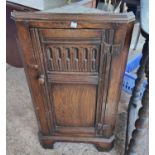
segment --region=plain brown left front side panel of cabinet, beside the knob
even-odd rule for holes
[[[16,22],[16,27],[18,30],[18,37],[21,44],[21,55],[24,62],[24,70],[30,89],[31,97],[33,100],[33,105],[35,113],[37,116],[39,130],[43,135],[49,135],[49,124],[47,111],[45,110],[45,100],[44,94],[42,92],[42,86],[38,83],[38,71],[28,67],[29,65],[34,65],[35,61],[33,59],[33,47],[31,44],[29,26],[23,22]]]

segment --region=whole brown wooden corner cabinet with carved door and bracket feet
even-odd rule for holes
[[[132,14],[16,13],[24,68],[45,148],[56,141],[113,146]],[[72,21],[77,28],[71,28]]]

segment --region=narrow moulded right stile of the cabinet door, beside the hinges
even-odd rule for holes
[[[113,30],[112,30],[113,31]],[[98,85],[98,99],[97,99],[97,134],[103,135],[104,130],[104,113],[106,106],[106,97],[109,87],[109,70],[111,64],[111,45],[107,44],[107,38],[112,40],[113,35],[111,31],[103,30],[102,32],[102,43],[101,43],[101,57],[100,57],[100,68],[99,68],[99,85]],[[107,126],[108,127],[108,126]]]

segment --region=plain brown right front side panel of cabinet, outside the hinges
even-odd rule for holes
[[[109,90],[104,115],[104,124],[110,125],[110,128],[105,130],[103,134],[105,137],[110,137],[114,131],[132,30],[133,22],[121,25],[115,33],[114,43],[121,43],[122,50],[118,54],[113,53],[111,60]]]

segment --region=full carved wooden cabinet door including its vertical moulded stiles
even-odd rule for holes
[[[102,136],[110,130],[104,117],[111,62],[122,48],[122,42],[113,44],[114,30],[31,28],[30,32],[44,68],[52,134],[72,130]]]

